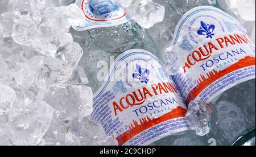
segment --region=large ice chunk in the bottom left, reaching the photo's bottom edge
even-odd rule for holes
[[[44,101],[35,101],[28,110],[14,109],[9,114],[10,125],[14,131],[11,142],[17,146],[34,146],[42,141],[49,129],[53,109]]]

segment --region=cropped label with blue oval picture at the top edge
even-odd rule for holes
[[[77,0],[85,15],[85,20],[75,27],[77,31],[92,28],[112,27],[129,21],[126,11],[112,0]]]

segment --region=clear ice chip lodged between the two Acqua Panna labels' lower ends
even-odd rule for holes
[[[210,116],[212,109],[205,101],[191,101],[186,118],[195,129],[196,134],[203,137],[210,132]]]

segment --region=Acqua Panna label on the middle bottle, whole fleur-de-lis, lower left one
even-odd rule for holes
[[[131,49],[112,65],[108,80],[94,94],[92,118],[119,145],[147,145],[191,129],[187,107],[156,56]]]

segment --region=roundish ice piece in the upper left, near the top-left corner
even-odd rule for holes
[[[38,26],[30,19],[19,19],[13,26],[14,41],[23,46],[31,46],[32,42],[40,39]]]

